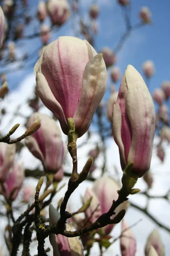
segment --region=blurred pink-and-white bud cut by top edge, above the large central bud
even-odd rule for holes
[[[48,0],[47,10],[53,25],[61,26],[70,16],[67,0]]]

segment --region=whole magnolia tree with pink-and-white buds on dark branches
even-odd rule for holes
[[[85,14],[88,20],[81,14],[83,1],[80,4],[78,0],[40,1],[37,6],[27,0],[4,0],[1,4],[1,125],[6,122],[6,131],[2,129],[0,137],[0,214],[5,224],[1,227],[1,245],[6,244],[6,248],[0,255],[30,256],[34,247],[34,255],[38,256],[88,256],[94,254],[96,245],[99,248],[96,255],[107,255],[108,248],[111,255],[117,255],[117,240],[122,256],[137,255],[138,241],[124,219],[130,205],[170,232],[169,227],[148,211],[150,198],[169,200],[169,192],[150,195],[153,176],[149,169],[155,130],[159,136],[154,147],[162,162],[164,140],[170,142],[166,103],[170,81],[162,82],[154,91],[153,99],[159,106],[155,111],[149,91],[155,73],[153,61],[145,61],[142,66],[147,85],[132,65],[127,66],[120,81],[122,72],[115,63],[117,53],[133,30],[152,24],[150,10],[141,7],[139,21],[132,24],[130,0],[118,0],[125,33],[114,50],[107,46],[99,50],[95,36],[100,9],[96,3],[91,3]],[[71,22],[72,36],[68,36],[67,29],[62,30],[62,36],[56,36],[56,31],[59,33],[68,22]],[[38,37],[42,41],[40,49],[29,54],[19,52],[19,47],[26,49]],[[37,62],[35,55],[36,59],[39,55]],[[22,95],[26,102],[17,105],[9,121],[6,116],[11,118],[11,115],[6,109],[10,112],[13,107],[7,106],[11,99],[8,76],[18,72],[21,79],[33,66],[36,90],[29,97]],[[116,84],[119,84],[118,91]],[[23,104],[25,111],[22,111]],[[20,124],[11,125],[15,118],[23,128],[25,125],[18,137],[15,134],[20,131]],[[122,171],[108,170],[106,142],[111,138],[119,148]],[[83,153],[82,158],[87,158],[81,170],[77,167],[82,160],[79,152]],[[30,169],[24,166],[26,159]],[[138,185],[141,179],[147,184],[143,192]],[[87,185],[87,180],[91,185],[81,195],[81,205],[77,207],[78,187]],[[129,203],[129,196],[133,198],[137,193],[147,198],[145,208]],[[112,231],[119,222],[122,231],[116,236]],[[165,255],[157,228],[148,234],[144,246],[141,255]]]

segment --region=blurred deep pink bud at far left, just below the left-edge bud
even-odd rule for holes
[[[11,200],[15,200],[15,198],[17,197],[21,189],[23,180],[24,180],[23,164],[19,165],[17,161],[14,160],[14,165],[10,169],[8,178],[2,183],[3,194],[7,198],[11,197]]]

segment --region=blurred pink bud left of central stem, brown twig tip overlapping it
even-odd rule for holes
[[[42,113],[33,113],[28,119],[27,128],[37,117],[41,119],[41,127],[32,135],[26,137],[26,146],[29,151],[41,160],[44,171],[56,173],[65,160],[66,147],[56,122]]]

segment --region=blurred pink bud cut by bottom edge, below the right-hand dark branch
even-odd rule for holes
[[[133,235],[132,230],[125,221],[122,221],[122,235],[120,238],[120,248],[122,256],[135,256],[136,239],[135,236]]]

